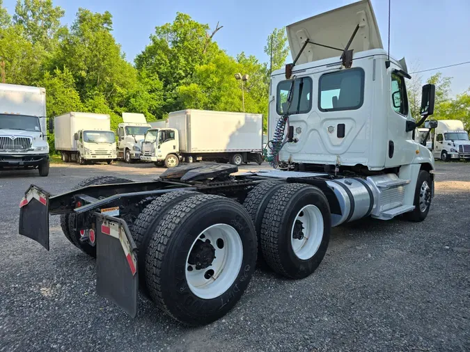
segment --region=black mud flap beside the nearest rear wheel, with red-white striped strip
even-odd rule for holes
[[[96,216],[96,293],[108,298],[132,318],[137,315],[136,245],[125,221]]]

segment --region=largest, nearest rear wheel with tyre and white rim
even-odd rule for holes
[[[164,215],[149,241],[150,296],[171,317],[202,325],[242,296],[256,265],[256,233],[242,205],[194,195]]]

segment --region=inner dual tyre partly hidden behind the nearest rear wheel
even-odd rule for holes
[[[159,198],[152,200],[136,218],[134,226],[132,227],[132,237],[136,243],[137,250],[139,250],[139,256],[137,257],[139,261],[139,287],[146,296],[150,296],[150,294],[148,294],[145,274],[147,246],[152,233],[155,232],[155,227],[158,226],[159,221],[162,220],[163,216],[173,205],[198,194],[201,193],[194,191],[165,193]]]

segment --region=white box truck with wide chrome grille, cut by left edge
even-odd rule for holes
[[[0,83],[0,170],[49,175],[45,88]]]

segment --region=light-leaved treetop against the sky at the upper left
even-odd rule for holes
[[[23,26],[24,35],[33,44],[51,50],[63,34],[61,18],[65,11],[52,4],[52,0],[17,0],[13,21]]]

